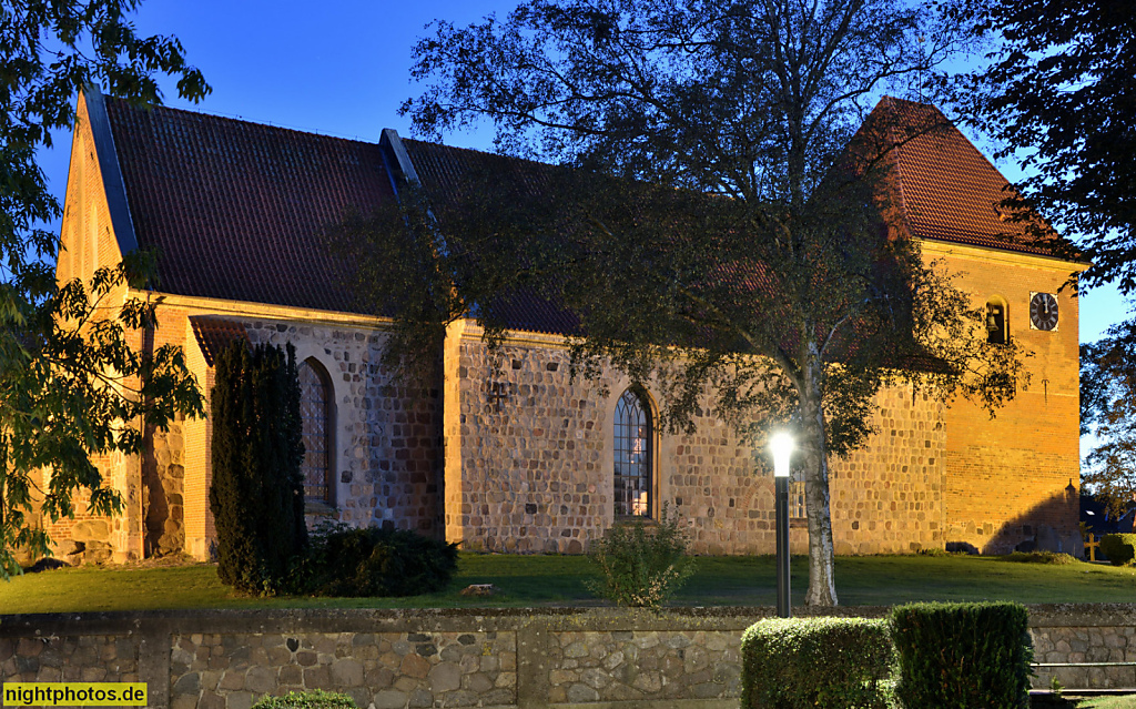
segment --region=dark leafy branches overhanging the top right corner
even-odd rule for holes
[[[1136,12],[1117,0],[953,0],[996,44],[961,84],[968,119],[1018,155],[1021,200],[1081,237],[1081,285],[1136,290]],[[999,36],[1001,35],[1001,36]],[[1010,197],[1008,194],[1008,197]],[[1071,248],[1071,244],[1069,244]]]

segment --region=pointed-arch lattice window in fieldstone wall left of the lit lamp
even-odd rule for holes
[[[628,389],[616,403],[616,517],[650,517],[654,432],[646,397]]]

